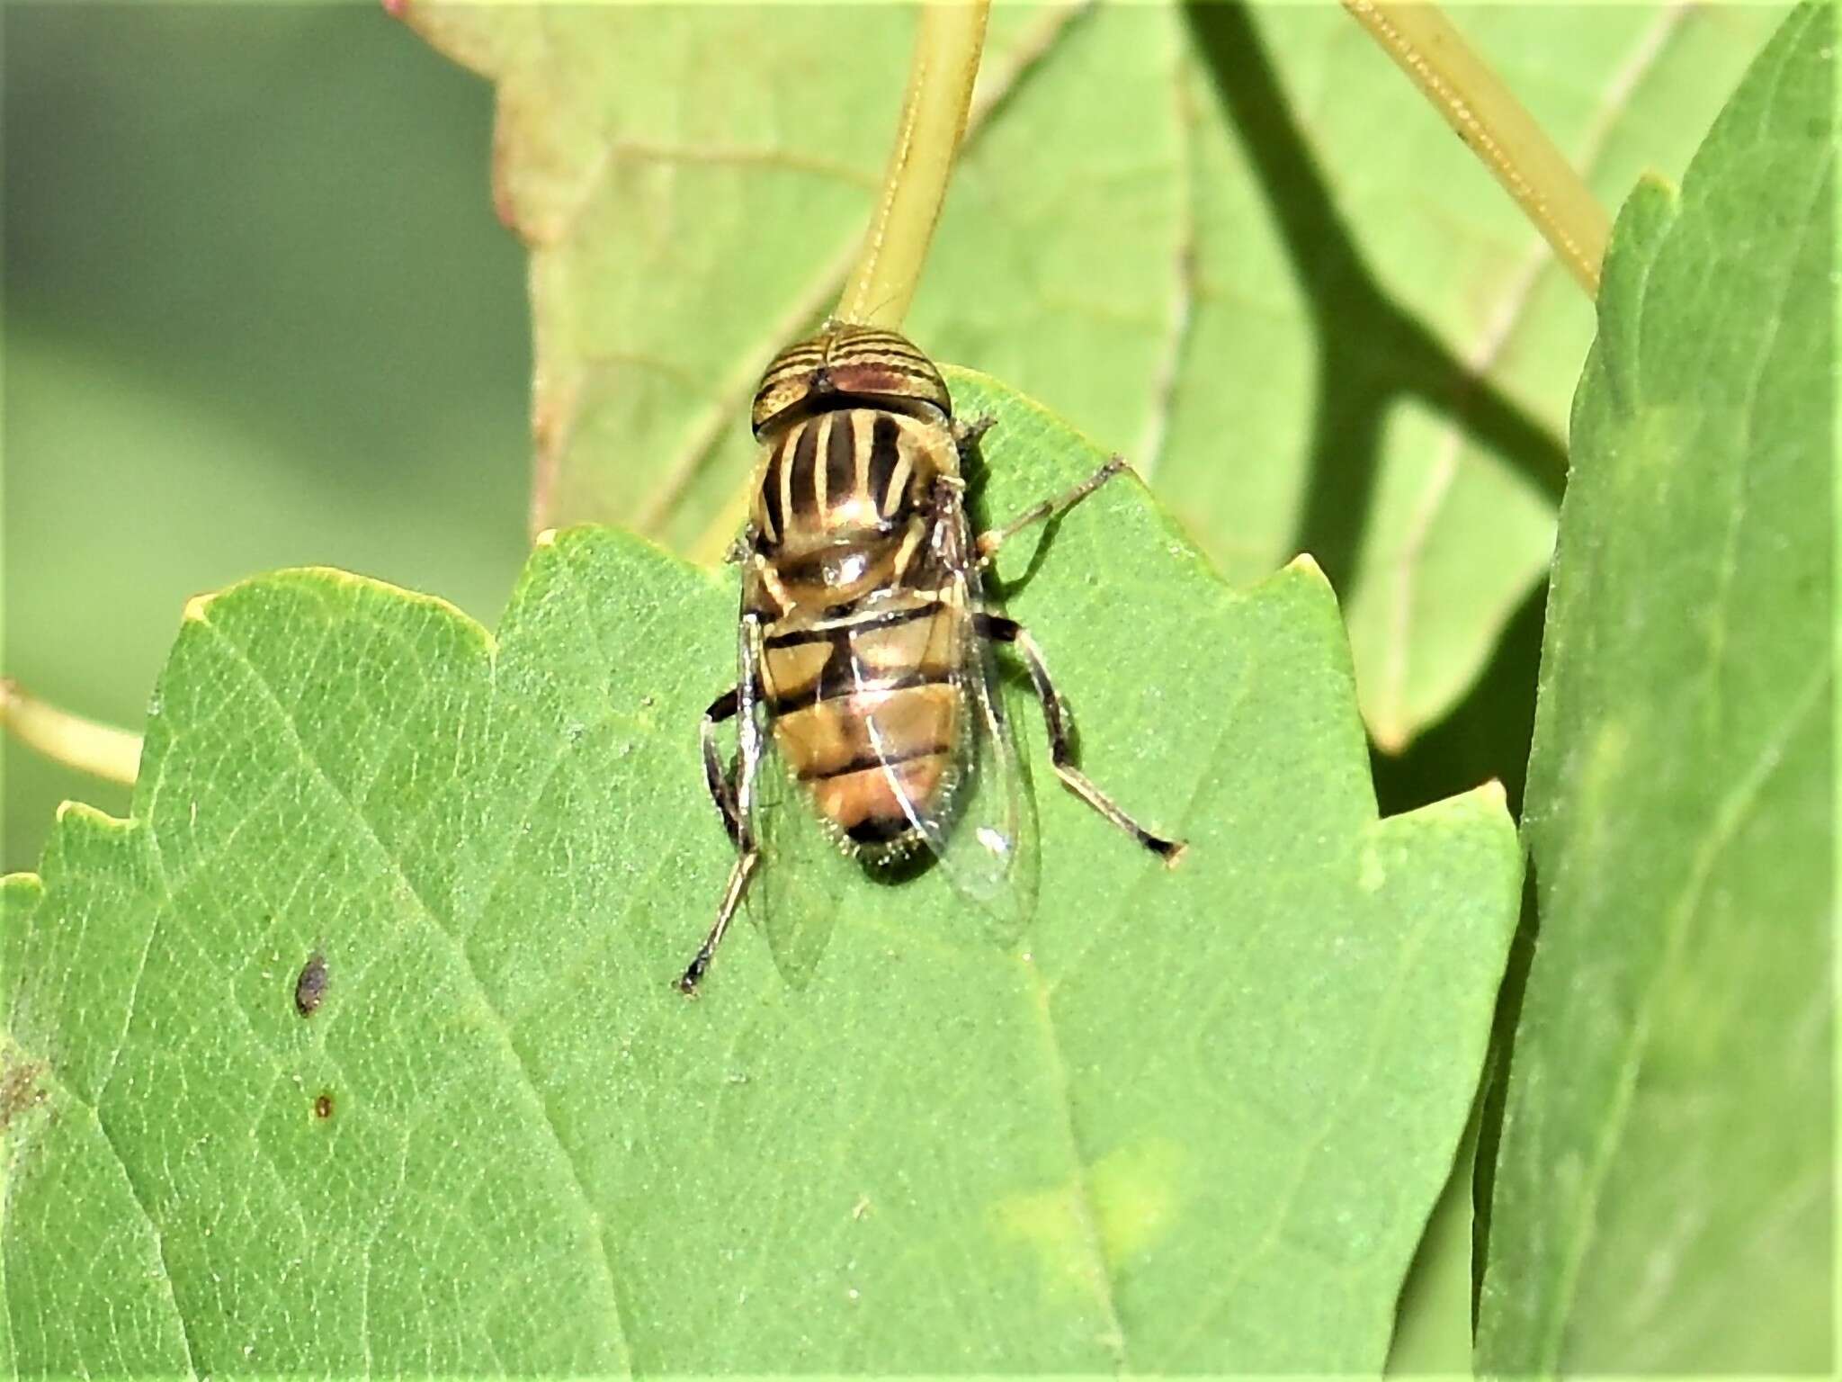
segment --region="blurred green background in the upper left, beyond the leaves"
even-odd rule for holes
[[[186,597],[332,564],[494,623],[525,256],[492,94],[376,6],[0,9],[4,658],[140,728]],[[4,866],[127,789],[6,744]]]

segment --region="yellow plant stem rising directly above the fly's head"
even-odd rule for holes
[[[838,299],[838,321],[899,328],[908,315],[965,135],[989,7],[989,0],[921,6],[895,147],[864,247]]]

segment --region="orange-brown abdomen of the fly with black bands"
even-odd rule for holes
[[[962,691],[958,606],[934,593],[785,619],[763,639],[774,737],[820,814],[855,844],[893,846],[912,809],[952,789]]]

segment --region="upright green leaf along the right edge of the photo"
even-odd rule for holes
[[[1492,1371],[1833,1364],[1833,83],[1805,6],[1606,264],[1529,772]]]

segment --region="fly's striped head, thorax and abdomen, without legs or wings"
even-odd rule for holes
[[[939,501],[960,474],[949,409],[927,356],[855,326],[781,352],[755,398],[763,704],[820,814],[884,853],[952,789],[965,730],[969,623],[934,540],[963,525]]]

